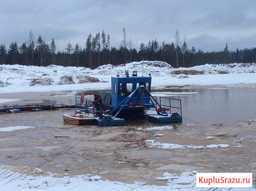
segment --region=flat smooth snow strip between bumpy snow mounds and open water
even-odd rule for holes
[[[156,77],[152,76],[152,88],[168,87],[168,86],[233,86],[243,85],[253,87],[256,84],[256,73],[229,73],[229,74],[206,74],[206,75],[189,75],[188,78],[168,78],[169,76]],[[109,76],[109,80],[111,76]],[[10,85],[0,88],[2,93],[17,92],[49,92],[49,91],[76,91],[76,90],[98,90],[111,89],[109,82],[97,83],[75,83],[49,86],[15,86]]]

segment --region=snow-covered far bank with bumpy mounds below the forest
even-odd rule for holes
[[[201,65],[173,68],[166,62],[132,62],[119,66],[103,65],[94,70],[84,67],[0,65],[0,93],[110,89],[111,76],[128,70],[138,76],[151,73],[152,86],[221,85],[256,83],[256,64]]]

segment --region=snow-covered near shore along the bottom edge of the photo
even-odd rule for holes
[[[41,173],[41,169],[35,169]],[[160,191],[160,190],[200,190],[200,191],[228,191],[230,188],[200,188],[196,187],[195,170],[187,170],[181,175],[163,173],[163,177],[157,180],[167,180],[167,186],[144,185],[143,182],[133,184],[118,181],[102,180],[99,176],[77,175],[75,177],[55,177],[56,174],[48,172],[48,176],[31,176],[25,173],[14,172],[8,166],[0,166],[0,188],[1,190],[47,190],[47,191],[80,191],[80,190],[133,190],[133,191]],[[233,191],[255,190],[255,188],[232,188]]]

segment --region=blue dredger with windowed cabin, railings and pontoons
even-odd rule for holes
[[[128,70],[125,70],[125,76],[111,78],[111,92],[98,93],[102,105],[84,99],[83,94],[76,96],[76,115],[91,115],[99,126],[124,125],[125,120],[137,119],[153,123],[181,123],[181,100],[152,96],[151,79],[150,74],[137,76],[137,71],[133,71],[133,75],[129,76]],[[99,104],[99,110],[95,109],[95,104]],[[67,121],[68,115],[63,115],[63,118]]]

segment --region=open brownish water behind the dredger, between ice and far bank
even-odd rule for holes
[[[23,92],[0,94],[0,99],[21,99],[3,103],[7,105],[36,103],[74,105],[75,95],[83,93],[86,99],[93,99],[92,95],[99,91],[104,90]],[[163,96],[181,99],[183,124],[223,123],[231,125],[236,121],[256,119],[256,86],[254,85],[163,87],[152,88],[152,92],[171,92],[171,96],[165,93]],[[173,104],[175,107],[179,106],[177,101]],[[174,111],[180,113],[180,110],[174,109],[172,112]]]

